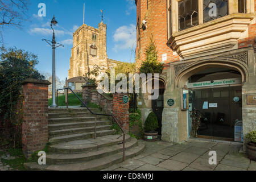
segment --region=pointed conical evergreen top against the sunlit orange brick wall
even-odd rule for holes
[[[146,60],[142,62],[139,71],[141,73],[162,73],[163,65],[158,62],[158,51],[156,51],[153,36],[150,38],[150,44],[146,48]]]

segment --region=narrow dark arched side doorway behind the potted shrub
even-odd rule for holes
[[[163,108],[164,108],[164,82],[162,80],[159,80],[159,96],[156,100],[151,100],[151,106],[153,113],[156,114],[156,117],[158,118],[158,135],[161,135],[162,132],[162,114],[163,114]]]

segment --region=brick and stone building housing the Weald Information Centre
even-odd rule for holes
[[[137,69],[154,37],[159,98],[140,96],[143,120],[158,116],[162,140],[191,137],[192,108],[202,115],[199,137],[242,140],[256,130],[255,0],[135,0]],[[146,23],[143,24],[143,20]],[[236,135],[236,139],[235,139]]]

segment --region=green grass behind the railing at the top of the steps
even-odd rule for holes
[[[79,96],[82,99],[82,94],[77,93],[77,96]],[[57,97],[56,97],[57,99]],[[50,106],[52,104],[52,98],[49,98],[48,105]],[[81,101],[73,94],[68,94],[68,105],[69,106],[80,106]],[[66,106],[65,103],[65,95],[63,96],[58,96],[58,106]]]

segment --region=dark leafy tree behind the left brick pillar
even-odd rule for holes
[[[21,127],[20,108],[17,108],[22,96],[21,82],[27,78],[43,79],[44,76],[35,69],[38,57],[33,53],[16,47],[6,49],[3,46],[0,51],[0,121],[2,124],[9,122],[10,127],[16,129],[17,126]],[[16,133],[14,130],[11,137],[14,137],[13,141],[20,142],[20,138],[15,138]]]

